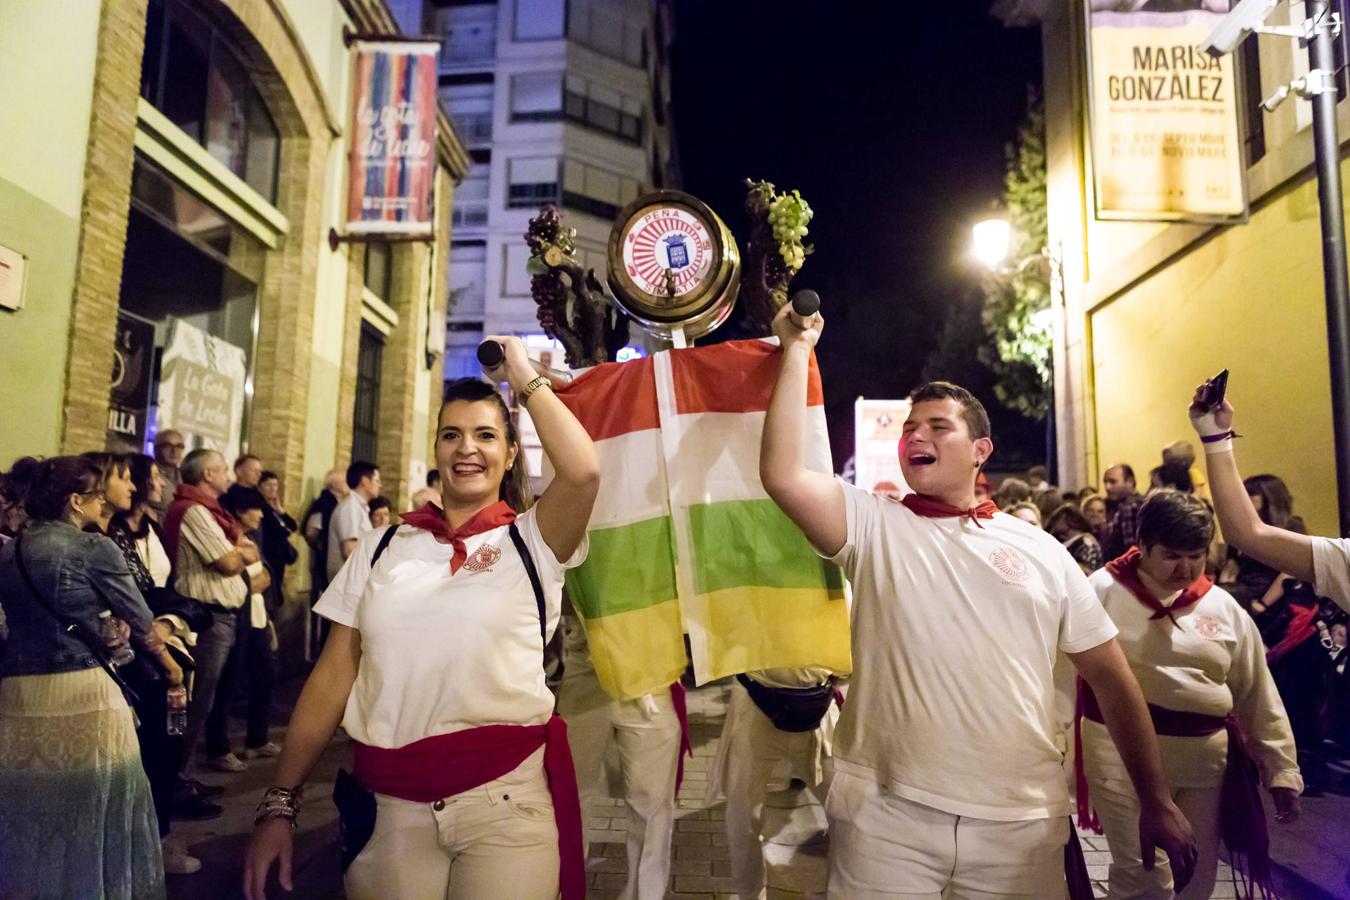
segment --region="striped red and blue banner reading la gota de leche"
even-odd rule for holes
[[[436,43],[355,45],[348,233],[432,232],[439,50]]]

